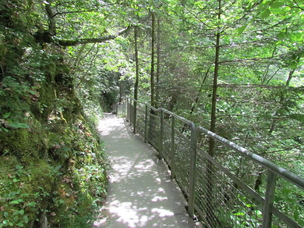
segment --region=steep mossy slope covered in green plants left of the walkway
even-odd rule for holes
[[[0,226],[86,227],[106,193],[103,146],[65,53],[35,40],[31,4],[0,3]]]

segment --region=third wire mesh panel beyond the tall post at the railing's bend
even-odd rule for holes
[[[160,118],[156,115],[149,113],[148,142],[157,150],[159,150],[160,133]]]

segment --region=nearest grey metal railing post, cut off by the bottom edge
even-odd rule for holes
[[[271,227],[272,223],[272,206],[274,204],[275,192],[276,192],[276,180],[277,175],[268,170],[267,173],[267,186],[265,193],[265,202],[263,210],[263,223],[262,227]]]

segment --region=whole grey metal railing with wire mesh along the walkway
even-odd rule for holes
[[[300,176],[166,109],[132,98],[113,107],[158,150],[187,197],[189,215],[207,227],[304,226]],[[205,152],[209,138],[222,155]],[[266,184],[255,189],[257,180]]]

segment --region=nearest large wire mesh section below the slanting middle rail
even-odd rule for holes
[[[197,149],[195,203],[201,219],[212,227],[259,227],[262,205],[230,177],[237,178],[234,174]]]

